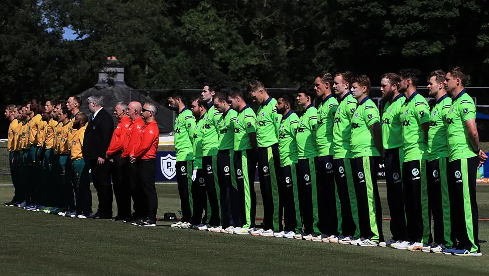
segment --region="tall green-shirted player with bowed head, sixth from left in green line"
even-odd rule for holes
[[[268,95],[261,81],[250,82],[247,92],[260,104],[257,110],[258,178],[263,199],[263,229],[251,234],[273,237],[274,232],[283,230],[278,190],[281,171],[278,129],[282,116],[275,108],[277,100]]]

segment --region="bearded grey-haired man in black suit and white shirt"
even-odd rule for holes
[[[90,165],[93,186],[97,190],[98,210],[94,218],[109,219],[112,217],[112,184],[110,166],[105,160],[105,153],[114,131],[114,121],[103,109],[101,96],[90,96],[87,103],[93,116],[85,130],[83,158]]]

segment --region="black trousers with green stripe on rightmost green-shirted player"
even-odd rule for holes
[[[478,158],[457,159],[448,163],[448,192],[452,230],[457,249],[480,252],[478,242],[479,213],[475,194]]]

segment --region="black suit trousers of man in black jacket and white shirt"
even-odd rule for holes
[[[110,182],[110,164],[105,161],[102,165],[97,164],[96,159],[90,160],[93,187],[97,190],[98,209],[97,213],[102,218],[112,217],[112,183]]]

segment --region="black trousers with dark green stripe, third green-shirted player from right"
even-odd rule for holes
[[[403,163],[403,195],[407,240],[431,243],[431,216],[428,203],[426,160]]]

